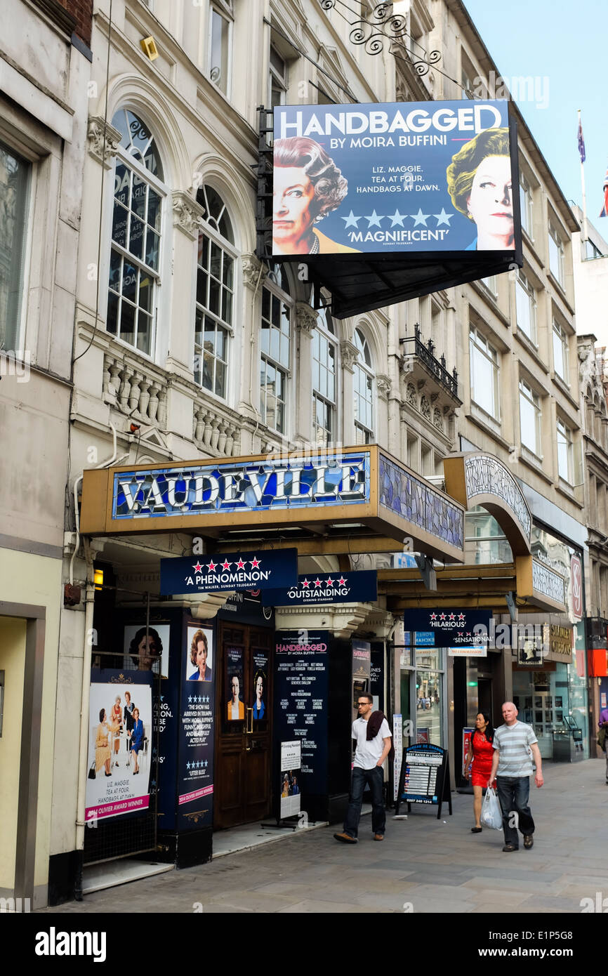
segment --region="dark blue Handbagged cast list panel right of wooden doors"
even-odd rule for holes
[[[329,641],[323,630],[277,630],[274,679],[276,743],[302,743],[299,791],[327,789]],[[278,746],[277,746],[278,748]]]

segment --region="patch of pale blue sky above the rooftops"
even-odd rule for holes
[[[547,86],[547,107],[516,101],[564,196],[579,205],[577,110],[581,109],[587,149],[588,219],[604,238],[608,237],[608,218],[598,220],[608,167],[608,3],[465,0],[465,6],[506,79],[538,77],[539,94],[543,85]]]

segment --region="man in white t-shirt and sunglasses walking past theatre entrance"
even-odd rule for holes
[[[352,723],[352,738],[357,744],[354,753],[352,778],[350,781],[350,796],[346,810],[345,829],[342,834],[334,834],[336,840],[346,844],[356,844],[361,816],[361,803],[366,785],[372,793],[372,831],[374,840],[385,839],[386,814],[383,799],[383,784],[385,773],[383,765],[390,752],[392,738],[388,722],[382,721],[369,726],[368,722],[373,712],[373,698],[371,695],[359,695],[357,708],[359,717]],[[374,718],[380,717],[382,712],[374,712]],[[374,731],[378,724],[378,731],[368,738],[368,728]]]

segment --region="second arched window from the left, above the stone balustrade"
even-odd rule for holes
[[[213,186],[201,186],[196,199],[205,211],[205,226],[198,234],[196,259],[194,379],[225,399],[234,315],[234,233]]]

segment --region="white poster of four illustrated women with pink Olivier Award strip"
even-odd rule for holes
[[[91,677],[85,818],[95,822],[149,806],[152,674],[125,681],[106,668]]]

